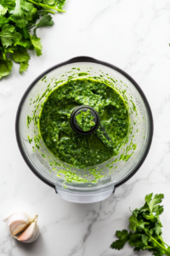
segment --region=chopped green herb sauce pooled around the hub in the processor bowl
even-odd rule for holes
[[[80,105],[91,106],[99,113],[100,128],[92,135],[82,136],[71,129],[71,112]],[[109,85],[94,79],[70,80],[57,87],[43,102],[39,120],[43,142],[51,153],[79,167],[99,165],[118,154],[127,138],[128,125],[122,97]]]

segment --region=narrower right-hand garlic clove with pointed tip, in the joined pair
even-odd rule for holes
[[[32,220],[28,228],[20,236],[15,238],[18,241],[29,243],[32,241],[36,241],[38,236],[39,236],[39,228],[37,226],[37,215],[36,215],[36,217]]]

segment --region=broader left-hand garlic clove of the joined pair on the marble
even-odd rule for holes
[[[32,219],[25,212],[15,212],[3,221],[7,222],[11,236],[16,236],[31,224]]]

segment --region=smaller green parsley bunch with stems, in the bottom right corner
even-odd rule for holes
[[[116,236],[119,238],[111,244],[111,247],[116,250],[122,249],[128,241],[129,245],[134,247],[134,251],[148,250],[152,255],[170,256],[170,247],[163,241],[161,232],[160,215],[163,212],[163,207],[160,206],[163,194],[153,194],[145,196],[144,207],[135,209],[133,215],[129,218],[129,229],[116,231]]]

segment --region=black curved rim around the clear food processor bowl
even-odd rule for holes
[[[39,81],[40,79],[42,79],[45,75],[47,75],[49,72],[53,71],[54,69],[58,68],[58,67],[63,67],[65,65],[71,64],[71,63],[76,63],[76,62],[91,62],[91,63],[97,63],[97,64],[101,64],[104,65],[106,67],[111,67],[112,69],[116,70],[119,73],[122,73],[122,75],[124,77],[126,77],[134,86],[135,88],[139,91],[140,96],[142,97],[145,107],[148,111],[148,116],[149,116],[149,121],[150,121],[150,135],[149,135],[149,141],[148,141],[148,145],[147,148],[145,149],[144,155],[141,158],[141,160],[139,161],[139,163],[137,164],[137,166],[135,167],[135,169],[133,170],[132,173],[130,173],[126,178],[124,178],[120,183],[116,183],[115,187],[119,187],[121,186],[123,183],[126,183],[128,179],[130,179],[131,177],[133,177],[133,175],[138,172],[140,166],[142,166],[142,164],[144,163],[144,160],[147,156],[147,154],[149,153],[150,150],[150,145],[152,142],[152,137],[153,137],[153,131],[154,131],[154,124],[153,124],[153,117],[152,117],[152,113],[151,113],[151,109],[150,109],[150,104],[147,101],[143,90],[141,90],[141,88],[139,87],[139,84],[136,83],[136,81],[134,81],[133,78],[131,78],[131,76],[129,76],[126,72],[124,72],[121,68],[116,67],[110,63],[107,63],[105,61],[99,61],[97,59],[94,59],[92,57],[88,57],[88,56],[77,56],[75,58],[70,59],[69,61],[64,61],[59,63],[58,65],[55,65],[54,67],[50,67],[48,68],[48,70],[46,70],[45,72],[43,72],[42,74],[40,74],[37,79],[35,79],[30,86],[27,88],[26,92],[24,93],[24,95],[22,96],[21,100],[20,100],[20,104],[19,107],[17,109],[17,113],[16,113],[16,119],[15,119],[15,134],[16,134],[16,140],[18,143],[18,147],[20,148],[20,153],[22,154],[23,159],[26,161],[27,166],[29,166],[29,168],[31,169],[31,171],[42,180],[42,182],[48,184],[48,186],[55,188],[54,183],[50,183],[49,181],[47,181],[45,178],[43,178],[37,171],[35,168],[33,168],[33,166],[31,165],[31,163],[29,162],[29,160],[27,160],[26,158],[26,154],[24,153],[24,150],[21,146],[20,143],[20,135],[19,135],[19,120],[20,120],[20,111],[22,108],[23,103],[25,102],[26,96],[29,93],[29,91],[31,90],[31,88],[37,83],[37,81]]]

